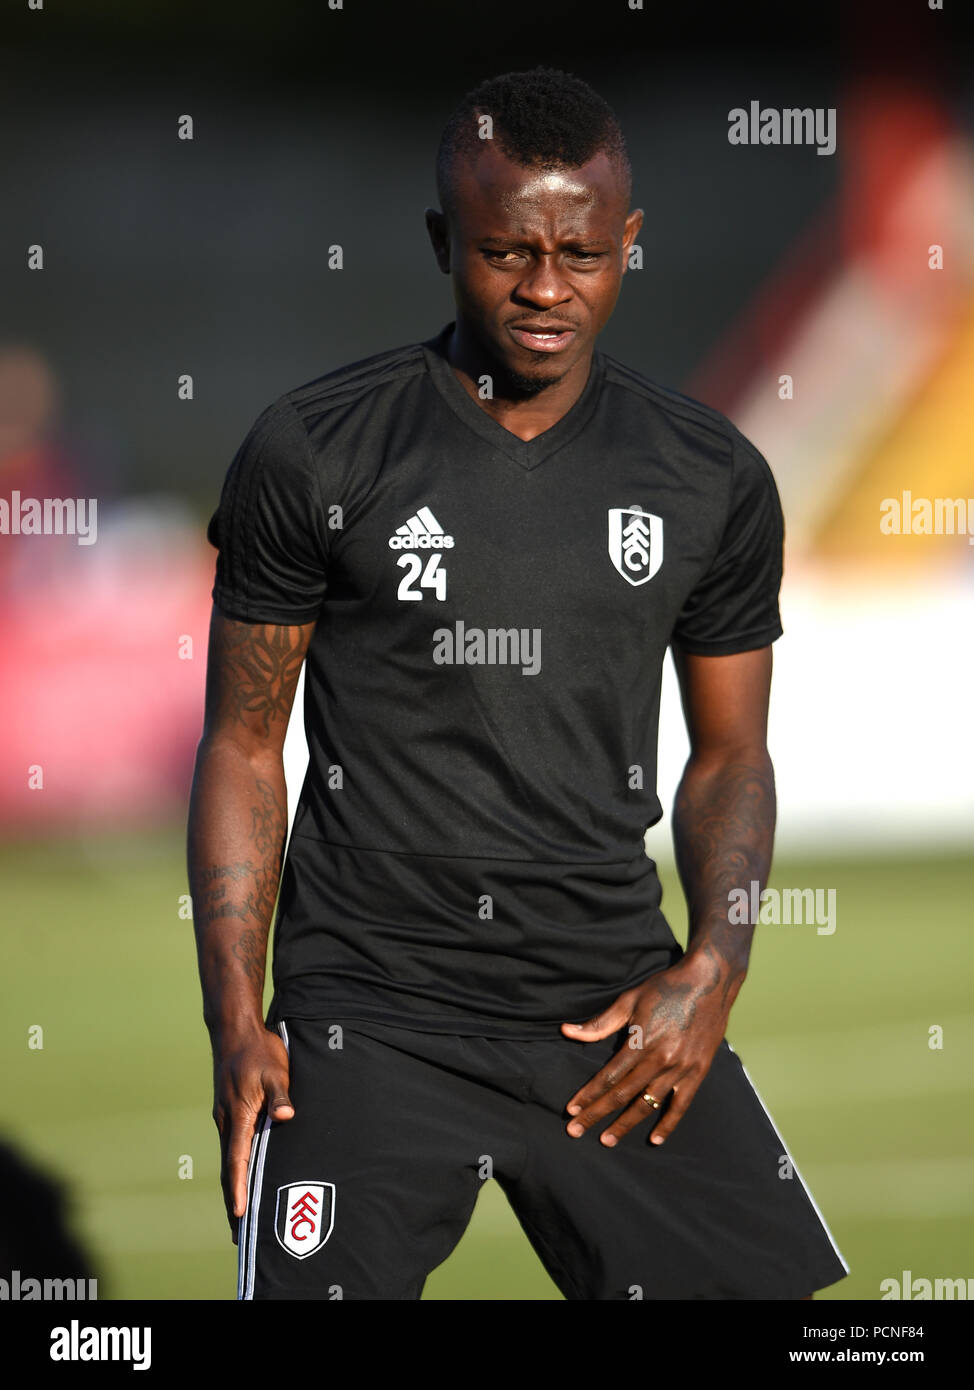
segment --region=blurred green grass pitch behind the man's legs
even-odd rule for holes
[[[0,869],[4,1137],[67,1184],[101,1298],[233,1298],[182,828],[8,845]],[[771,885],[836,890],[832,935],[759,927],[728,1031],[852,1266],[820,1297],[974,1276],[974,866],[779,860]],[[488,1183],[425,1297],[560,1294]]]

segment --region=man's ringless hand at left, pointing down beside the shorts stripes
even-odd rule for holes
[[[276,1033],[260,1031],[213,1045],[213,1119],[220,1130],[220,1183],[236,1245],[238,1220],[247,1205],[247,1163],[261,1113],[289,1120],[288,1049]]]

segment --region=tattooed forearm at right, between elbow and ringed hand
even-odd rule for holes
[[[775,792],[771,760],[728,763],[702,771],[686,766],[674,805],[677,867],[689,912],[689,949],[706,951],[725,974],[723,1001],[748,969],[753,923],[729,920],[734,890],[767,881],[774,845]]]

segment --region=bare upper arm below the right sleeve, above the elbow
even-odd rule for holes
[[[684,717],[695,758],[767,746],[771,648],[698,656],[672,644]]]

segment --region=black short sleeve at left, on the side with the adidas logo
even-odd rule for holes
[[[249,623],[310,623],[327,588],[327,541],[307,430],[285,398],[233,456],[207,525],[214,602]]]

